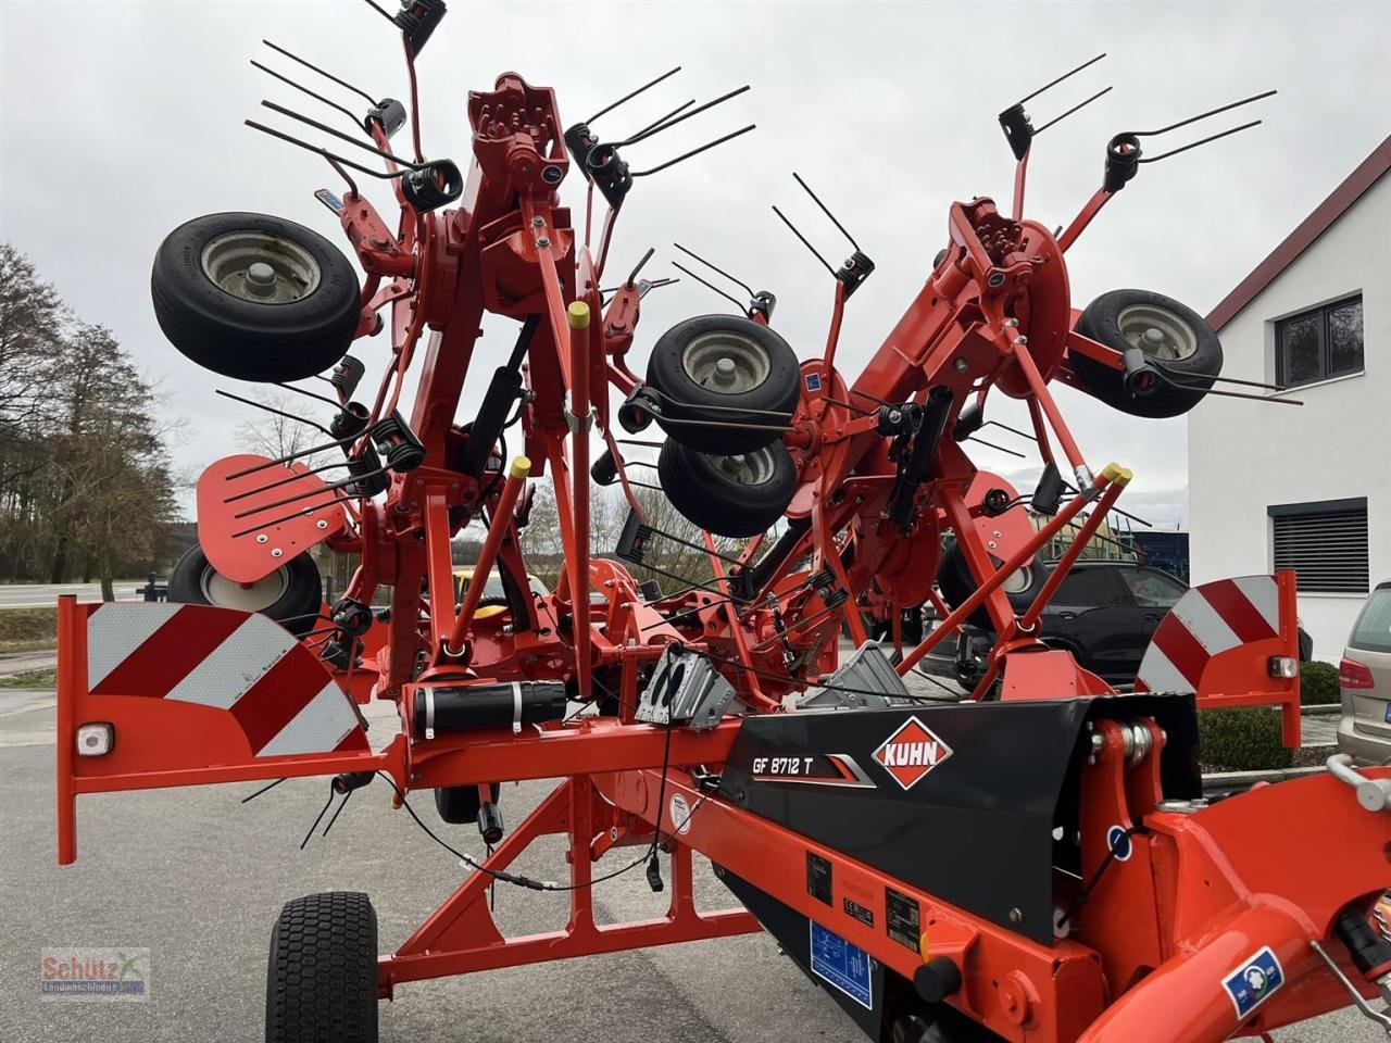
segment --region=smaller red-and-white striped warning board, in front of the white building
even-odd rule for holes
[[[1280,633],[1280,587],[1274,576],[1239,576],[1191,587],[1156,627],[1135,688],[1199,691],[1213,656]]]

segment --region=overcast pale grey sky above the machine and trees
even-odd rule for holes
[[[0,235],[163,382],[168,409],[189,419],[177,458],[195,474],[231,451],[231,431],[245,416],[211,388],[248,388],[198,369],[164,341],[149,300],[156,246],[182,221],[220,210],[289,217],[344,242],[312,196],[319,186],[339,188],[325,164],[241,125],[262,97],[314,104],[248,65],[255,57],[291,71],[262,46],[263,36],[369,92],[405,97],[399,45],[357,0],[0,0]],[[974,195],[1008,199],[1013,159],[995,117],[1013,100],[1109,53],[1031,104],[1042,124],[1116,86],[1035,145],[1027,211],[1052,227],[1097,186],[1110,135],[1280,89],[1255,107],[1263,127],[1145,168],[1068,254],[1077,306],[1107,289],[1142,286],[1207,312],[1391,131],[1388,39],[1391,7],[1381,3],[455,0],[419,63],[421,125],[427,154],[463,165],[465,92],[491,86],[505,70],[554,86],[562,122],[573,122],[684,67],[597,124],[605,136],[643,127],[687,97],[751,83],[748,95],[632,150],[634,165],[647,165],[758,124],[755,134],[638,181],[611,266],[626,268],[655,245],[648,274],[676,274],[668,263],[670,242],[680,241],[776,292],[775,325],[798,353],[819,355],[830,280],[769,204],[779,203],[835,261],[846,248],[791,181],[797,170],[878,264],[847,309],[837,362],[853,374],[944,245],[947,204]],[[334,96],[353,106],[351,95]],[[1219,117],[1213,129],[1231,122]],[[394,213],[378,185],[367,195]],[[573,175],[562,197],[580,211]],[[689,281],[654,292],[633,360],[645,364],[652,341],[676,320],[721,309]],[[515,324],[494,320],[488,328],[479,374],[491,373],[510,346]],[[370,381],[388,349],[384,337],[355,345]],[[481,392],[479,377],[466,388],[465,413]],[[1123,506],[1160,523],[1187,520],[1182,420],[1124,417],[1066,388],[1057,396],[1093,464],[1116,459],[1135,470]],[[1280,423],[1276,407],[1267,409],[1264,421]],[[996,402],[992,416],[1020,424],[1024,413]],[[1025,466],[975,449],[982,467],[1008,474]]]

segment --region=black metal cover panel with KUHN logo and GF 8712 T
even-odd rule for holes
[[[1168,695],[753,716],[730,750],[721,791],[1050,943],[1053,827],[1075,820],[1067,805],[1075,805],[1088,754],[1085,723],[1099,716],[1156,718],[1168,733],[1167,795],[1200,795],[1192,698]]]

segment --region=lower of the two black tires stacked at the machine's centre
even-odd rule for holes
[[[766,477],[744,484],[721,470],[719,462],[739,453],[704,453],[668,438],[657,458],[662,492],[697,528],[715,535],[750,537],[766,533],[783,516],[797,491],[797,466],[782,442],[746,455],[766,462]]]

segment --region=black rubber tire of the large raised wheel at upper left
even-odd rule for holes
[[[227,292],[203,271],[203,249],[220,235],[260,232],[306,250],[319,285],[299,300],[262,303]],[[319,232],[266,214],[207,214],[160,243],[150,271],[154,318],[170,342],[199,366],[234,380],[287,381],[337,363],[357,331],[357,273]]]

